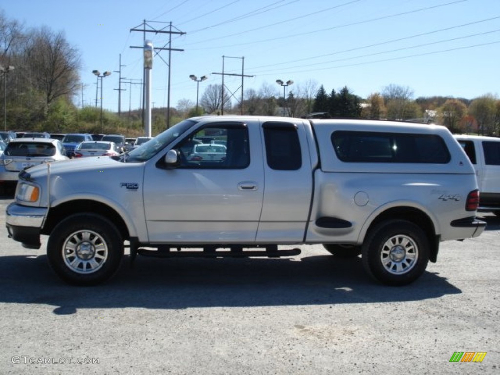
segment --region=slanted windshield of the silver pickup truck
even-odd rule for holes
[[[151,157],[165,148],[168,144],[177,139],[179,135],[184,134],[184,132],[195,123],[196,121],[192,119],[180,121],[179,123],[158,134],[154,138],[148,140],[145,143],[142,143],[137,148],[127,152],[126,158],[123,159],[127,162],[140,162],[149,160]]]

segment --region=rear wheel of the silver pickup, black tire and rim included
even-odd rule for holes
[[[387,220],[371,229],[361,247],[366,272],[386,285],[416,280],[427,267],[429,241],[423,230],[406,220]]]

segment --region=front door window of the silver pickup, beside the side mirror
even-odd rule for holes
[[[203,127],[176,147],[181,168],[242,169],[250,164],[248,129],[243,123]]]

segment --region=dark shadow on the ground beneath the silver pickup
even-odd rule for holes
[[[380,285],[364,273],[361,258],[335,259],[329,254],[278,259],[138,257],[132,267],[125,256],[114,278],[94,287],[60,281],[45,255],[4,256],[0,279],[0,302],[49,304],[55,314],[83,308],[404,302],[461,293],[431,272],[407,286]]]

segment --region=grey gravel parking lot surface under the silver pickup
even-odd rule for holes
[[[444,242],[415,283],[387,287],[360,258],[125,256],[74,287],[45,252],[7,238],[0,197],[0,373],[500,374],[500,220]],[[486,352],[482,362],[450,362]]]

